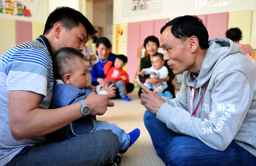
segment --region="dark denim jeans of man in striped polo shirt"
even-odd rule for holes
[[[118,137],[109,130],[87,132],[62,142],[24,147],[6,166],[103,165],[119,151]]]

